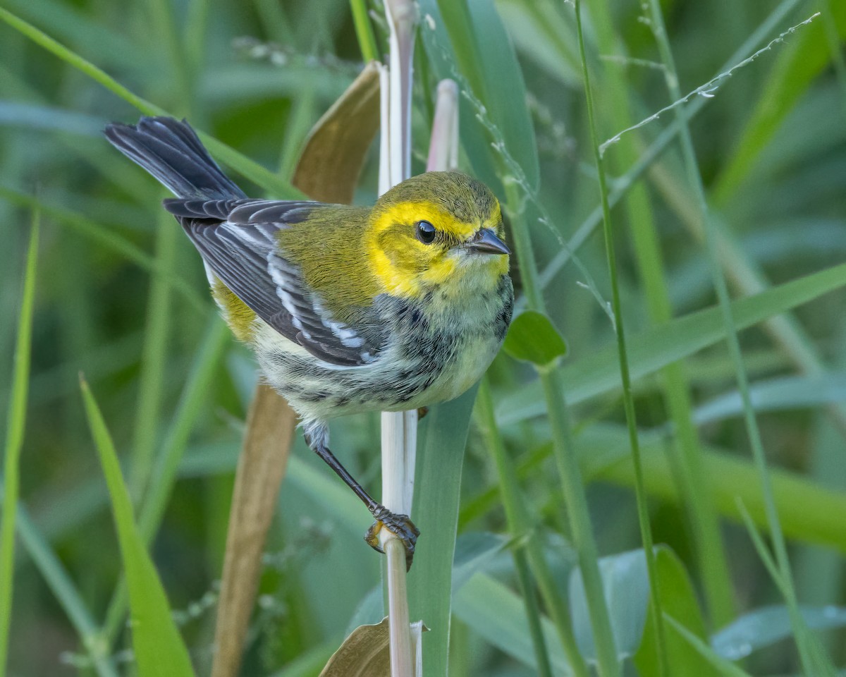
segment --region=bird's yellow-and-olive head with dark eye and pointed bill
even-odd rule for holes
[[[365,231],[372,271],[388,293],[497,286],[511,251],[491,190],[458,172],[427,172],[376,201]]]

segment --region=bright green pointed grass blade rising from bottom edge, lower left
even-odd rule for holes
[[[114,522],[129,588],[132,644],[140,677],[192,677],[194,669],[188,650],[173,622],[168,597],[147,553],[145,540],[135,524],[132,501],[106,422],[82,378],[80,388],[91,435],[112,498]]]

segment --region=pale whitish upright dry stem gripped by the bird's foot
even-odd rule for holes
[[[387,108],[387,118],[382,118],[380,194],[411,174],[411,59],[416,8],[408,0],[387,0],[385,13],[390,27],[390,65],[388,87],[382,89],[382,112]],[[382,504],[395,513],[411,512],[416,451],[417,412],[382,412]],[[405,548],[390,536],[383,548],[387,554],[391,675],[411,677],[414,672]]]

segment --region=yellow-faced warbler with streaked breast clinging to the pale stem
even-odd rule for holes
[[[373,207],[253,200],[173,118],[109,124],[107,139],[176,195],[234,335],[299,414],[305,440],[365,503],[377,532],[419,531],[377,503],[329,449],[327,420],[458,397],[490,365],[514,291],[497,198],[463,173],[430,172]]]

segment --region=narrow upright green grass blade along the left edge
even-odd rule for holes
[[[40,215],[33,212],[30,245],[26,254],[24,289],[20,297],[18,336],[14,349],[12,388],[6,416],[6,443],[3,452],[3,517],[0,520],[0,677],[5,677],[8,636],[12,622],[14,592],[14,530],[20,489],[20,452],[26,428],[26,397],[30,384],[32,316],[36,296],[36,265]]]

